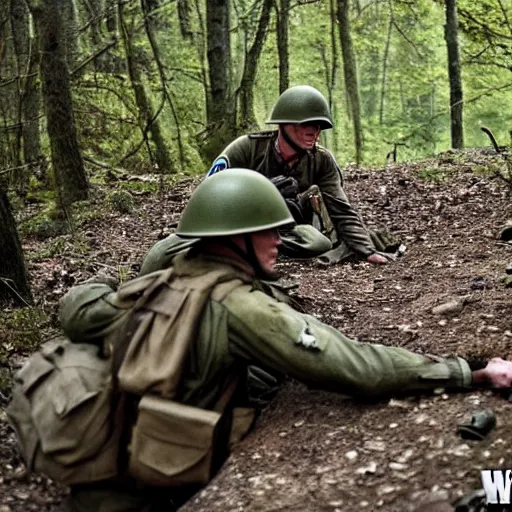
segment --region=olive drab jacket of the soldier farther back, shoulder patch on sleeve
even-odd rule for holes
[[[243,135],[224,149],[212,170],[244,167],[268,178],[292,176],[299,183],[299,192],[318,185],[338,237],[364,257],[377,252],[368,230],[343,190],[341,170],[332,153],[317,145],[289,168],[275,149],[276,140],[277,131]]]

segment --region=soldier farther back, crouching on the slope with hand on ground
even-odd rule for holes
[[[324,96],[310,86],[291,87],[281,94],[267,123],[277,124],[278,130],[239,137],[217,157],[207,176],[241,167],[271,179],[298,224],[281,233],[280,251],[288,257],[320,256],[318,261],[324,264],[392,260],[399,244],[365,227],[343,190],[334,156],[317,144],[321,130],[333,127]],[[158,242],[144,272],[165,268],[180,243],[173,235]]]

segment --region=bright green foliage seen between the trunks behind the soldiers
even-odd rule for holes
[[[151,15],[165,75],[163,81],[146,35],[140,4],[125,5],[125,24],[132,36],[132,58],[141,70],[153,111],[158,113],[172,170],[202,174],[217,156],[218,148],[234,137],[234,127],[206,126],[206,2],[189,6],[186,31],[180,24],[178,4],[160,2]],[[326,95],[332,88],[335,129],[326,133],[322,141],[343,165],[354,159],[353,127],[344,92],[339,27],[332,22],[335,12],[331,12],[331,4],[335,11],[336,1],[291,3],[289,76],[290,85],[310,84]],[[399,147],[400,160],[424,158],[448,149],[450,95],[444,2],[360,0],[351,4],[364,125],[364,163],[382,164],[397,142],[407,144]],[[246,53],[256,33],[261,2],[231,0],[230,6],[231,51],[226,55],[226,66],[231,77],[231,95],[235,96]],[[458,9],[466,146],[488,145],[481,125],[488,125],[498,139],[506,140],[512,127],[512,5],[499,0],[459,0]],[[114,15],[114,11],[110,14]],[[79,14],[85,22],[91,22],[86,11]],[[84,154],[130,174],[154,172],[150,153],[154,153],[155,145],[150,137],[146,141],[143,137],[148,127],[137,108],[125,50],[117,32],[119,27],[106,27],[104,20],[98,23],[97,27],[96,22],[84,25],[80,60],[101,50],[111,38],[117,38],[117,42],[72,76],[81,147]],[[6,79],[9,78],[7,70]],[[262,128],[277,99],[278,81],[276,11],[272,9],[254,90],[256,119]],[[9,102],[9,98],[6,93],[0,103]],[[13,118],[7,124],[16,122]],[[12,133],[6,141],[9,147],[14,144]],[[46,138],[43,147],[49,154]],[[102,172],[92,167],[92,181]],[[51,232],[52,228],[43,225],[41,231]]]

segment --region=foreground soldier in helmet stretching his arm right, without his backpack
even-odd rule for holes
[[[421,393],[439,387],[510,387],[512,362],[496,358],[484,368],[472,370],[459,357],[438,358],[402,348],[358,343],[260,291],[261,279],[276,277],[281,243],[278,229],[291,223],[293,218],[278,190],[254,171],[221,172],[194,191],[177,233],[183,239],[195,237],[200,241],[175,259],[172,272],[155,274],[168,275],[171,287],[184,297],[193,293],[198,283],[215,283],[204,309],[192,320],[193,325],[186,316],[190,309],[167,304],[165,296],[154,297],[155,310],[177,315],[176,335],[180,329],[193,333],[173,400],[211,410],[230,377],[235,373],[245,375],[248,365],[253,364],[316,388],[355,397]],[[61,322],[68,337],[80,343],[108,340],[112,330],[119,329],[116,326],[122,323],[120,320],[129,314],[123,290],[133,288],[140,280],[152,279],[151,276],[126,283],[117,292],[101,284],[72,289],[61,307]],[[131,392],[142,390],[142,399],[148,395],[165,399],[169,383],[163,370],[169,364],[167,351],[176,340],[168,339],[158,347],[151,343],[134,347],[136,342],[130,342],[126,352],[129,365],[124,370],[121,367],[119,385]],[[115,350],[114,346],[114,359]],[[246,405],[244,383],[240,381],[238,386],[235,405]],[[248,426],[246,422],[243,430]],[[235,418],[233,430],[239,430],[238,438],[240,428]],[[126,452],[127,447],[121,449]],[[136,457],[133,450],[131,445],[132,458]],[[165,457],[158,449],[148,453],[155,460],[146,460],[146,464],[153,468],[172,462],[162,460]],[[64,510],[170,510],[169,499],[176,503],[186,495],[179,487],[160,486],[157,492],[151,481],[142,482],[133,474],[120,473],[110,480],[72,487]]]

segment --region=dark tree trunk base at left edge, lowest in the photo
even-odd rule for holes
[[[0,186],[0,304],[27,305],[32,302],[25,260],[11,205]]]

